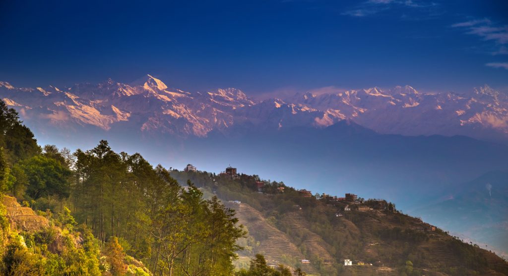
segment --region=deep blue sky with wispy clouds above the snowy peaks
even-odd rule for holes
[[[508,90],[505,1],[2,1],[0,80]],[[281,92],[280,92],[281,93]]]

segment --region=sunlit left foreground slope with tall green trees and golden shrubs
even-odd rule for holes
[[[183,189],[162,166],[115,153],[106,141],[75,153],[41,149],[2,101],[0,128],[2,192],[48,219],[9,230],[23,214],[3,211],[4,274],[232,273],[244,230],[216,197],[205,200],[192,183]],[[134,260],[146,267],[130,269]]]

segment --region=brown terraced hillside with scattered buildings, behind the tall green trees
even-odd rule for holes
[[[235,178],[231,174],[234,172]],[[229,166],[209,172],[173,170],[236,210],[249,231],[237,268],[255,254],[270,267],[301,268],[311,275],[504,275],[508,264],[477,245],[400,213],[384,199],[343,197],[262,181]],[[465,254],[464,252],[467,252]],[[471,256],[469,256],[471,254]],[[488,265],[486,265],[488,264]],[[483,272],[473,272],[481,266]],[[407,273],[411,270],[410,273]],[[404,272],[406,271],[406,272]]]

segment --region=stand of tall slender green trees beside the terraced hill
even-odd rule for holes
[[[68,202],[76,221],[100,241],[116,236],[154,274],[232,272],[244,231],[217,198],[204,200],[190,181],[182,189],[161,165],[153,168],[140,154],[116,153],[106,141],[74,156]]]

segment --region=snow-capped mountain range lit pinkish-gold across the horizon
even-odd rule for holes
[[[300,93],[256,100],[235,88],[186,92],[150,75],[131,84],[111,79],[69,88],[16,88],[0,82],[0,98],[30,126],[80,131],[97,127],[143,134],[205,137],[211,131],[322,128],[348,119],[379,133],[468,135],[508,141],[508,96],[488,87],[472,93],[421,93],[411,86],[334,94]]]

